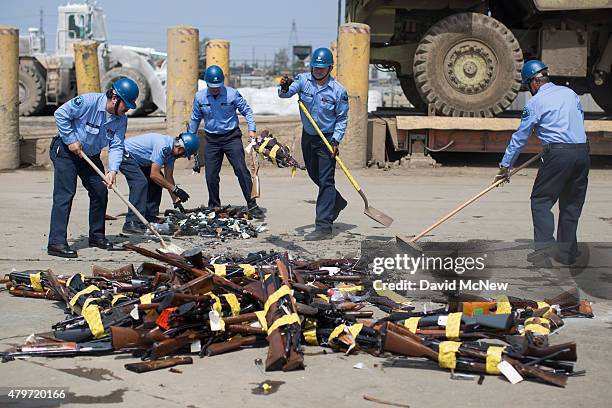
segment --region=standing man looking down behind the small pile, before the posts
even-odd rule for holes
[[[247,101],[234,88],[224,86],[223,70],[217,65],[206,69],[204,79],[207,89],[196,93],[191,111],[189,132],[197,133],[200,121],[204,119],[206,147],[204,149],[204,166],[206,185],[208,187],[208,206],[221,205],[219,198],[219,172],[223,155],[227,156],[238,177],[242,194],[247,203],[247,211],[253,218],[264,218],[263,211],[255,199],[251,198],[253,182],[251,173],[244,159],[242,131],[238,127],[236,109],[246,118],[249,137],[255,137],[255,118]]]

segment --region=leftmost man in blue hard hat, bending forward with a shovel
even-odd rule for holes
[[[79,95],[55,111],[59,134],[53,138],[49,154],[53,162],[53,208],[47,253],[76,258],[68,246],[67,228],[76,193],[77,176],[89,194],[89,246],[112,249],[104,232],[108,202],[107,186],[115,183],[123,156],[123,140],[129,109],[136,107],[138,85],[128,78],[115,81],[106,93]],[[81,158],[88,155],[104,171],[100,152],[109,146],[106,180]]]

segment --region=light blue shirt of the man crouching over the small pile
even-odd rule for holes
[[[143,167],[155,163],[160,167],[174,168],[173,147],[174,138],[159,133],[145,133],[125,141],[126,153]]]

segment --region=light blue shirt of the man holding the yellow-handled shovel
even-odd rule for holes
[[[281,98],[290,98],[296,93],[321,132],[332,133],[332,140],[340,143],[348,121],[348,94],[340,82],[330,76],[325,85],[318,86],[312,74],[304,73],[295,77],[289,91],[283,92],[278,87],[278,96]],[[306,133],[316,136],[317,131],[301,110],[300,115]]]

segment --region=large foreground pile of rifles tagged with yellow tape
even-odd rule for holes
[[[304,368],[307,345],[346,354],[424,358],[442,368],[531,379],[563,387],[576,344],[549,344],[565,317],[592,317],[576,289],[543,301],[448,294],[428,312],[377,296],[357,259],[304,261],[286,253],[207,258],[200,250],[164,255],[127,245],[161,263],[93,276],[12,272],[11,294],[66,302],[70,318],[31,336],[3,361],[21,356],[71,356],[130,350],[145,372],[190,364],[182,354],[210,357],[267,347],[265,369]],[[386,316],[373,319],[376,306]],[[397,357],[395,357],[397,358]]]

